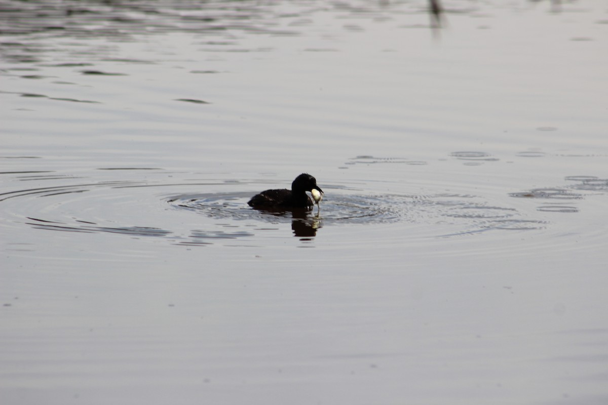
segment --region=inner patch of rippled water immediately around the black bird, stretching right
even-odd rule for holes
[[[314,229],[394,222],[441,224],[437,229],[442,230],[446,224],[457,227],[453,233],[435,234],[443,237],[488,230],[533,230],[546,226],[541,220],[522,218],[514,208],[488,205],[478,197],[459,194],[364,196],[326,188],[320,208],[315,207],[308,212],[252,209],[246,205],[249,197],[250,194],[229,192],[180,194],[165,199],[175,209],[185,209],[213,219],[301,222]]]

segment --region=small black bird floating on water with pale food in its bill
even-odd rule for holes
[[[247,204],[262,209],[311,209],[313,208],[313,200],[308,197],[306,191],[312,192],[313,189],[323,193],[313,176],[302,173],[291,183],[291,190],[281,188],[262,191],[252,197]]]

